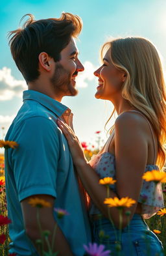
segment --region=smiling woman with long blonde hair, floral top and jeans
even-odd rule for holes
[[[110,100],[118,115],[106,145],[88,163],[71,128],[62,121],[58,124],[93,202],[89,210],[93,240],[105,244],[112,255],[161,255],[161,242],[143,221],[163,207],[161,184],[142,179],[143,173],[161,169],[165,163],[166,93],[160,57],[145,38],[112,40],[102,46],[101,55],[103,64],[94,72],[99,78],[95,97]],[[108,211],[103,203],[108,192],[99,179],[104,177],[116,180],[109,197],[136,201],[123,208],[122,220],[118,208]],[[104,236],[99,235],[101,229]]]

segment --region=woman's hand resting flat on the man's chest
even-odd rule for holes
[[[65,135],[65,138],[67,139],[71,156],[73,158],[73,164],[78,166],[87,163],[88,161],[84,156],[82,145],[78,140],[78,137],[73,132],[73,130],[60,119],[57,120],[57,123],[60,130],[62,130],[63,134]]]

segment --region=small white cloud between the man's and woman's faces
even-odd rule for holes
[[[84,63],[84,72],[78,73],[77,87],[88,87],[88,81],[95,79],[93,72],[97,69],[90,61]]]

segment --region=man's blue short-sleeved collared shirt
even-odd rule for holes
[[[10,253],[38,256],[25,233],[21,201],[30,195],[55,197],[54,207],[69,216],[57,220],[75,256],[84,255],[83,244],[91,241],[89,221],[67,141],[56,124],[58,117],[70,119],[71,111],[60,102],[37,91],[23,92],[23,106],[12,122],[5,140],[16,141],[17,149],[5,150],[5,178]]]

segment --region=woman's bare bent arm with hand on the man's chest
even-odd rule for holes
[[[147,139],[145,137],[145,120],[134,113],[123,113],[115,121],[115,156],[116,156],[116,179],[117,193],[110,190],[110,197],[139,198],[142,184],[142,175],[147,162]],[[106,187],[99,184],[99,176],[88,164],[84,157],[80,143],[73,131],[60,122],[60,128],[64,132],[69,143],[73,162],[77,168],[78,175],[89,196],[106,218],[108,206],[104,205],[107,197]],[[136,204],[123,211],[123,227],[127,225],[128,217],[126,210],[130,210],[132,218]],[[110,214],[116,227],[119,227],[119,210],[110,208]]]

